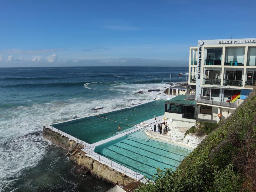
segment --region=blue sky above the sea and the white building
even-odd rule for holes
[[[126,65],[127,58],[187,66],[199,39],[256,37],[255,7],[246,0],[2,1],[0,67]]]

